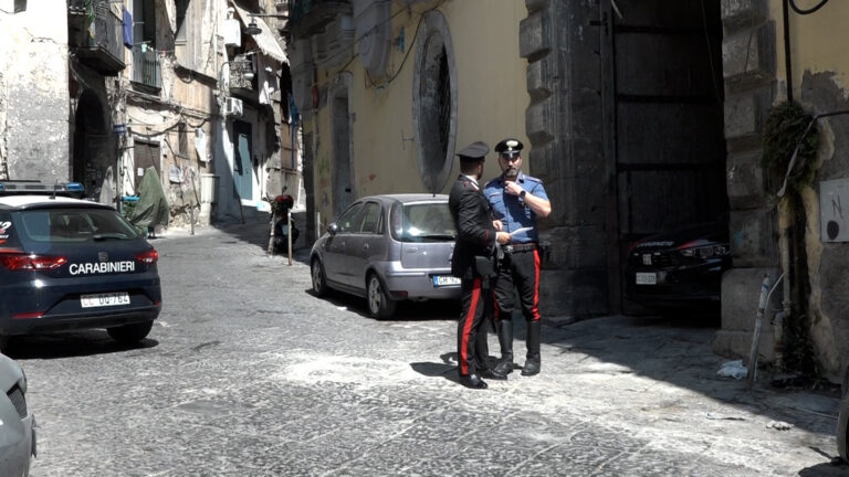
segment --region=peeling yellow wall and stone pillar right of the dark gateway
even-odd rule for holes
[[[775,317],[764,322],[761,357],[780,368],[801,356],[816,374],[846,382],[849,255],[841,203],[849,177],[849,38],[839,24],[849,6],[723,1],[722,14],[734,268],[723,280],[723,329],[714,349],[734,354],[748,349],[754,304],[767,276],[778,283],[778,297]],[[762,151],[772,108],[787,100],[810,115],[820,146],[807,180],[782,190],[787,168],[767,169]]]

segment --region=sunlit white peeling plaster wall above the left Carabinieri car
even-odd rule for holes
[[[67,7],[0,12],[0,158],[14,179],[69,179]]]

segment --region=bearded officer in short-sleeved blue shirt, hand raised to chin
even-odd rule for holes
[[[494,320],[501,346],[501,362],[493,370],[507,374],[513,371],[513,321],[515,290],[527,324],[527,356],[523,375],[539,373],[539,233],[536,218],[552,213],[552,204],[543,181],[522,172],[522,141],[514,138],[495,146],[502,174],[489,181],[484,195],[492,205],[496,230],[510,233],[510,243],[502,247],[504,261],[495,279]]]

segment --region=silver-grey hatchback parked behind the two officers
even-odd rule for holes
[[[448,195],[359,199],[313,245],[313,292],[324,296],[333,288],[365,297],[376,318],[392,316],[399,300],[455,299],[455,235]]]

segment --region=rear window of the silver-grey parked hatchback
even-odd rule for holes
[[[399,242],[444,242],[457,235],[447,202],[396,204],[392,237]]]

